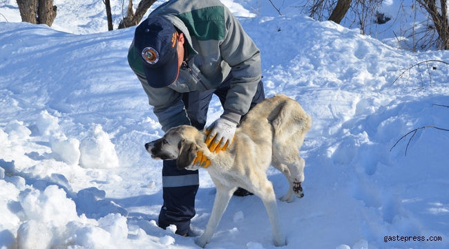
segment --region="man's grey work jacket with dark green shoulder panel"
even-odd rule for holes
[[[151,12],[164,16],[184,33],[189,57],[173,84],[155,89],[149,86],[140,51],[134,41],[128,63],[137,75],[154,107],[162,130],[191,124],[182,102],[182,93],[216,89],[232,73],[222,118],[240,122],[247,113],[261,77],[260,50],[231,12],[218,0],[171,0]]]

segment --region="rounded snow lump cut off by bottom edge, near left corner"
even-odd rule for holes
[[[52,230],[44,223],[26,221],[17,230],[17,246],[21,249],[47,249],[52,237]]]

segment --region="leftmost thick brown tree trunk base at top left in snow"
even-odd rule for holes
[[[53,6],[53,0],[17,0],[17,5],[22,21],[50,27],[55,21],[57,6]]]

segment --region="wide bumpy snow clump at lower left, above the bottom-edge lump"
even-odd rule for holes
[[[46,223],[50,228],[60,228],[78,219],[75,202],[67,199],[66,192],[56,185],[44,191],[33,189],[20,203],[28,219]]]

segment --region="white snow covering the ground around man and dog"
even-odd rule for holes
[[[314,120],[305,197],[278,201],[285,248],[448,248],[449,133],[430,126],[449,129],[449,68],[397,78],[449,53],[399,50],[294,8],[279,16],[268,1],[223,3],[262,51],[266,95],[289,95]],[[162,162],[144,143],[163,131],[126,61],[134,28],[107,32],[101,1],[55,4],[49,28],[0,0],[0,248],[198,248],[157,227]],[[214,98],[208,124],[221,112]],[[283,174],[268,174],[283,196]],[[195,234],[215,193],[200,170]],[[234,196],[206,248],[275,248],[260,199]]]

